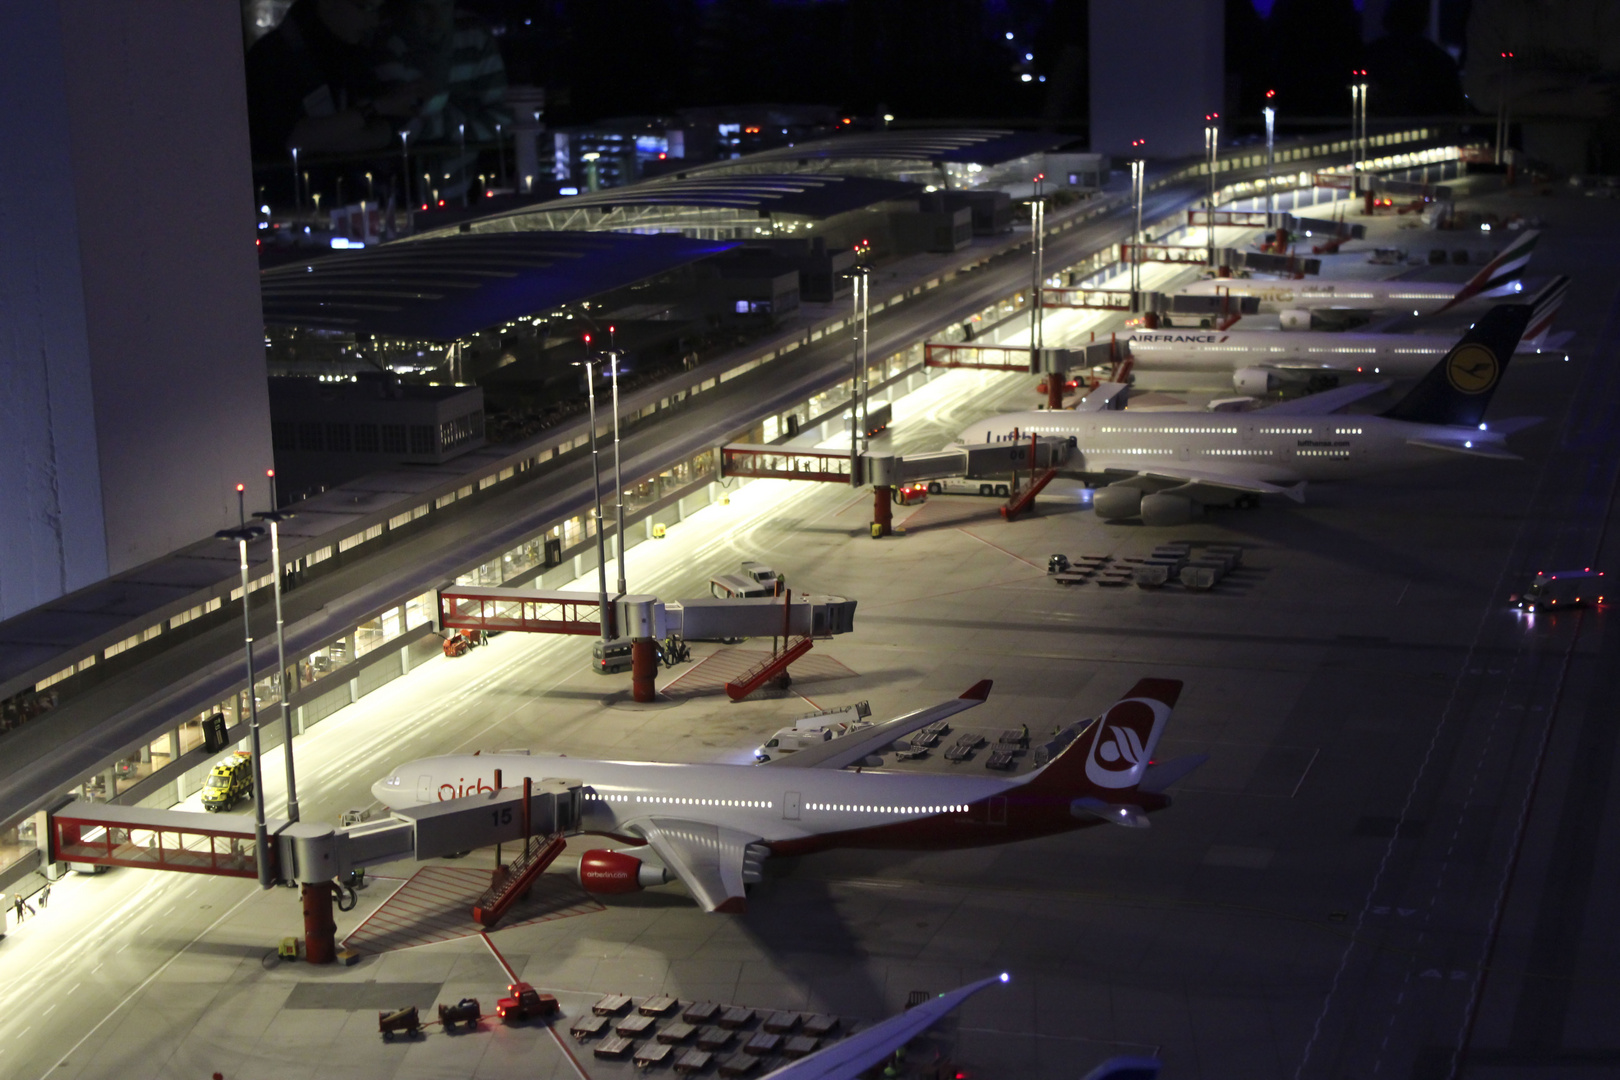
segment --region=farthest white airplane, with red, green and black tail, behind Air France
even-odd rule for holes
[[[1260,311],[1281,313],[1285,327],[1309,329],[1309,313],[1322,308],[1437,314],[1476,296],[1520,291],[1524,267],[1541,233],[1528,230],[1481,267],[1464,285],[1445,282],[1306,282],[1259,277],[1215,277],[1192,282],[1186,296],[1254,296]]]

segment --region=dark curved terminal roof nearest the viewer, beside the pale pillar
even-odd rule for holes
[[[267,325],[450,342],[732,246],[680,235],[450,233],[279,266],[259,288]]]

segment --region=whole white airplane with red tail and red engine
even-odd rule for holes
[[[982,704],[990,680],[961,698],[907,712],[765,764],[590,761],[561,755],[450,755],[402,764],[371,792],[389,808],[494,790],[525,777],[578,777],[583,832],[645,847],[590,850],[580,884],[635,892],[679,878],[708,912],[744,912],[744,886],[770,855],[836,847],[953,850],[1008,844],[1113,823],[1144,827],[1163,793],[1207,755],[1155,764],[1153,750],[1181,695],[1144,678],[1106,714],[1079,721],[1032,753],[1037,769],[1011,779],[872,771],[896,738]],[[849,766],[857,766],[849,769]]]

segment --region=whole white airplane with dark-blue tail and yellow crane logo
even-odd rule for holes
[[[959,444],[1072,439],[1066,471],[1106,483],[1097,517],[1184,525],[1205,505],[1254,504],[1264,494],[1304,502],[1306,481],[1349,479],[1427,465],[1437,453],[1518,460],[1507,436],[1539,418],[1484,423],[1529,304],[1498,304],[1380,415],[1338,415],[1388,382],[1364,382],[1247,413],[1034,411],[972,424]]]

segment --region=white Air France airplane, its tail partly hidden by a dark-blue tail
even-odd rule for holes
[[[1557,277],[1533,300],[1534,314],[1518,353],[1554,348],[1552,321],[1570,291]],[[1358,330],[1129,330],[1121,337],[1137,371],[1230,371],[1239,393],[1275,390],[1286,377],[1421,376],[1456,343],[1439,334],[1362,334]]]

